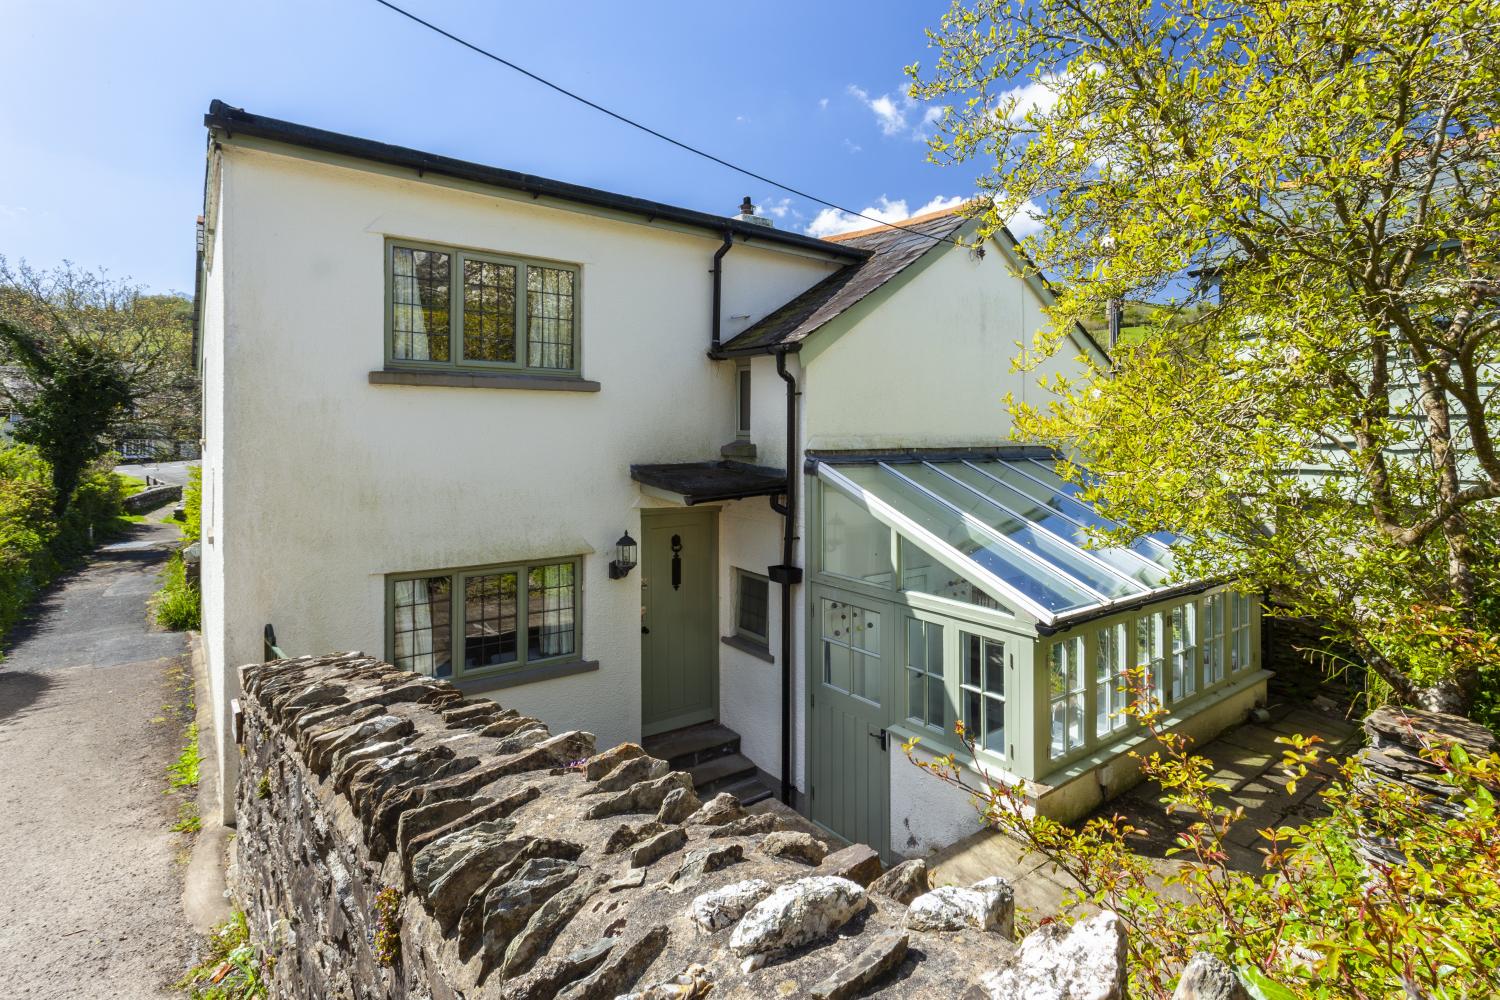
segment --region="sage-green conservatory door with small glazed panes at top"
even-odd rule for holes
[[[822,591],[816,601],[808,813],[844,840],[890,856],[888,633],[894,613]],[[860,598],[856,598],[860,600]]]

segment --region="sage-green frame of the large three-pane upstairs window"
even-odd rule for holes
[[[396,249],[428,250],[448,255],[448,360],[432,361],[420,358],[398,358],[394,331],[394,285],[396,285]],[[486,361],[464,357],[464,261],[474,259],[486,264],[501,264],[516,268],[516,360]],[[555,261],[542,256],[524,256],[498,250],[482,250],[447,243],[432,243],[429,240],[405,240],[400,237],[386,237],[384,249],[384,358],[386,367],[414,372],[504,372],[512,375],[536,375],[549,378],[582,378],[584,372],[584,268],[568,261]],[[526,268],[546,267],[564,270],[573,274],[573,366],[536,367],[530,364],[530,337],[526,330]]]

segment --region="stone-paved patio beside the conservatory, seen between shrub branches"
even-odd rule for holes
[[[1298,825],[1316,816],[1314,793],[1322,786],[1318,775],[1298,786],[1294,796],[1286,795],[1286,778],[1281,775],[1280,736],[1300,733],[1320,736],[1323,751],[1335,756],[1352,753],[1358,742],[1359,727],[1329,712],[1308,708],[1281,706],[1272,711],[1272,721],[1245,723],[1204,744],[1197,753],[1214,762],[1214,778],[1228,787],[1227,798],[1245,807],[1245,819],[1230,831],[1230,864],[1242,871],[1256,871],[1262,855],[1256,850],[1263,841],[1256,834],[1266,826]],[[1104,810],[1124,816],[1146,835],[1136,841],[1136,850],[1156,859],[1162,871],[1173,864],[1166,850],[1173,846],[1176,831],[1188,823],[1186,817],[1168,816],[1161,805],[1160,790],[1150,784],[1138,784],[1130,792],[1112,799]],[[938,885],[972,885],[988,876],[1000,876],[1016,888],[1017,912],[1029,912],[1032,919],[1053,916],[1062,909],[1066,889],[1072,885],[1038,855],[1024,855],[1020,844],[1011,838],[980,832],[938,852],[927,861],[933,871],[932,882]]]

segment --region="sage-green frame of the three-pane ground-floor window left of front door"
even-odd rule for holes
[[[573,567],[573,651],[552,657],[528,658],[528,630],[531,619],[531,591],[528,585],[531,570],[550,565]],[[470,577],[496,576],[501,573],[516,574],[518,595],[525,600],[516,610],[516,660],[513,663],[495,664],[489,667],[464,669],[464,583]],[[396,664],[396,585],[406,580],[426,580],[432,577],[448,577],[448,655],[453,660],[453,673],[444,681],[464,681],[476,678],[496,678],[520,670],[580,663],[584,660],[584,558],[561,556],[544,559],[526,559],[522,562],[490,562],[468,567],[417,570],[410,573],[387,573],[386,588],[386,660]],[[434,675],[435,676],[435,675]]]

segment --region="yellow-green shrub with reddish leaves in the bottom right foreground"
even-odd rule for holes
[[[1143,684],[1137,672],[1137,693]],[[984,774],[962,724],[972,766],[952,754],[920,759],[915,739],[904,750],[916,766],[970,792],[992,828],[1071,882],[1070,907],[1119,913],[1131,997],[1172,997],[1196,952],[1228,961],[1264,1000],[1492,996],[1500,982],[1500,756],[1473,759],[1458,745],[1425,750],[1438,768],[1434,783],[1458,807],[1440,811],[1431,796],[1376,780],[1358,762],[1323,759],[1316,738],[1288,736],[1286,793],[1294,795],[1312,769],[1332,772],[1316,795],[1324,816],[1258,831],[1264,868],[1251,873],[1230,861],[1246,819],[1214,781],[1216,765],[1164,732],[1160,708],[1137,700],[1128,714],[1155,747],[1131,756],[1170,811],[1190,820],[1168,865],[1136,853],[1138,831],[1120,817],[1072,828],[1032,814],[1024,787]]]

